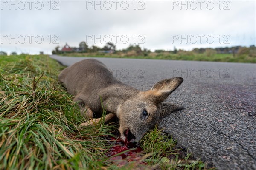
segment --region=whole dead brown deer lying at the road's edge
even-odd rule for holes
[[[175,77],[157,82],[151,90],[139,91],[118,81],[111,71],[96,59],[85,59],[65,68],[59,75],[67,91],[75,96],[81,113],[90,118],[102,116],[102,104],[107,113],[106,120],[117,116],[120,120],[119,132],[125,140],[125,132],[130,131],[130,138],[139,141],[143,135],[154,127],[160,116],[182,107],[163,102],[182,82],[183,78]],[[146,110],[148,116],[143,116]],[[93,115],[94,113],[94,115]],[[91,125],[99,122],[93,119]]]

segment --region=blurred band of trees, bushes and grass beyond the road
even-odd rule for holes
[[[116,50],[113,43],[107,43],[103,48],[96,46],[88,47],[85,42],[77,48],[70,48],[64,51],[56,47],[52,54],[70,57],[113,57],[113,58],[139,58],[139,59],[171,59],[190,61],[214,61],[214,62],[245,62],[256,63],[256,47],[225,47],[225,48],[194,48],[191,51],[174,48],[173,51],[155,50],[154,52],[139,45],[130,45],[123,50]]]

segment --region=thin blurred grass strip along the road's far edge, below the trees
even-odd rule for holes
[[[146,56],[127,56],[124,53],[120,54],[104,54],[104,53],[66,53],[60,54],[70,57],[110,57],[110,58],[135,58],[135,59],[170,59],[170,60],[189,60],[189,61],[212,61],[212,62],[244,62],[256,63],[256,57],[249,55],[241,55],[233,57],[232,54],[195,54],[192,52],[180,52],[178,54],[171,53],[151,53]]]

